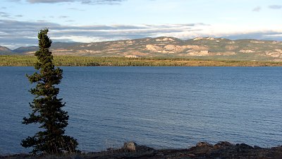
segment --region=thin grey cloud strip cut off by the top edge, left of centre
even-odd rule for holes
[[[80,2],[81,4],[119,4],[125,0],[27,0],[31,4],[56,4],[62,2]]]

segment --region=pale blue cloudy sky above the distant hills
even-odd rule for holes
[[[281,0],[0,0],[0,46],[171,36],[282,41]]]

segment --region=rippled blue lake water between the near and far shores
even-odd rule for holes
[[[66,134],[82,151],[125,141],[187,148],[198,141],[282,144],[281,67],[61,67],[59,97]],[[31,112],[32,67],[0,67],[0,154],[28,152],[20,141],[37,125]]]

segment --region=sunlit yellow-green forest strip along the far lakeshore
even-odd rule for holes
[[[1,55],[0,66],[34,66],[34,56]],[[78,57],[54,56],[56,66],[282,66],[278,61],[237,61],[231,59],[188,58],[126,58],[126,57]]]

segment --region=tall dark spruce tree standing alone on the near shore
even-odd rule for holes
[[[30,83],[37,83],[30,93],[35,95],[30,103],[32,113],[30,117],[23,118],[23,124],[39,124],[40,131],[35,136],[28,136],[22,141],[21,146],[32,147],[30,153],[57,154],[63,151],[75,152],[78,142],[71,136],[64,135],[65,127],[68,125],[68,112],[61,108],[65,106],[61,98],[57,98],[59,88],[55,86],[61,82],[63,71],[55,69],[53,56],[49,52],[51,40],[47,36],[48,29],[40,30],[38,33],[39,50],[35,52],[37,63],[35,69],[38,71],[27,76]]]

